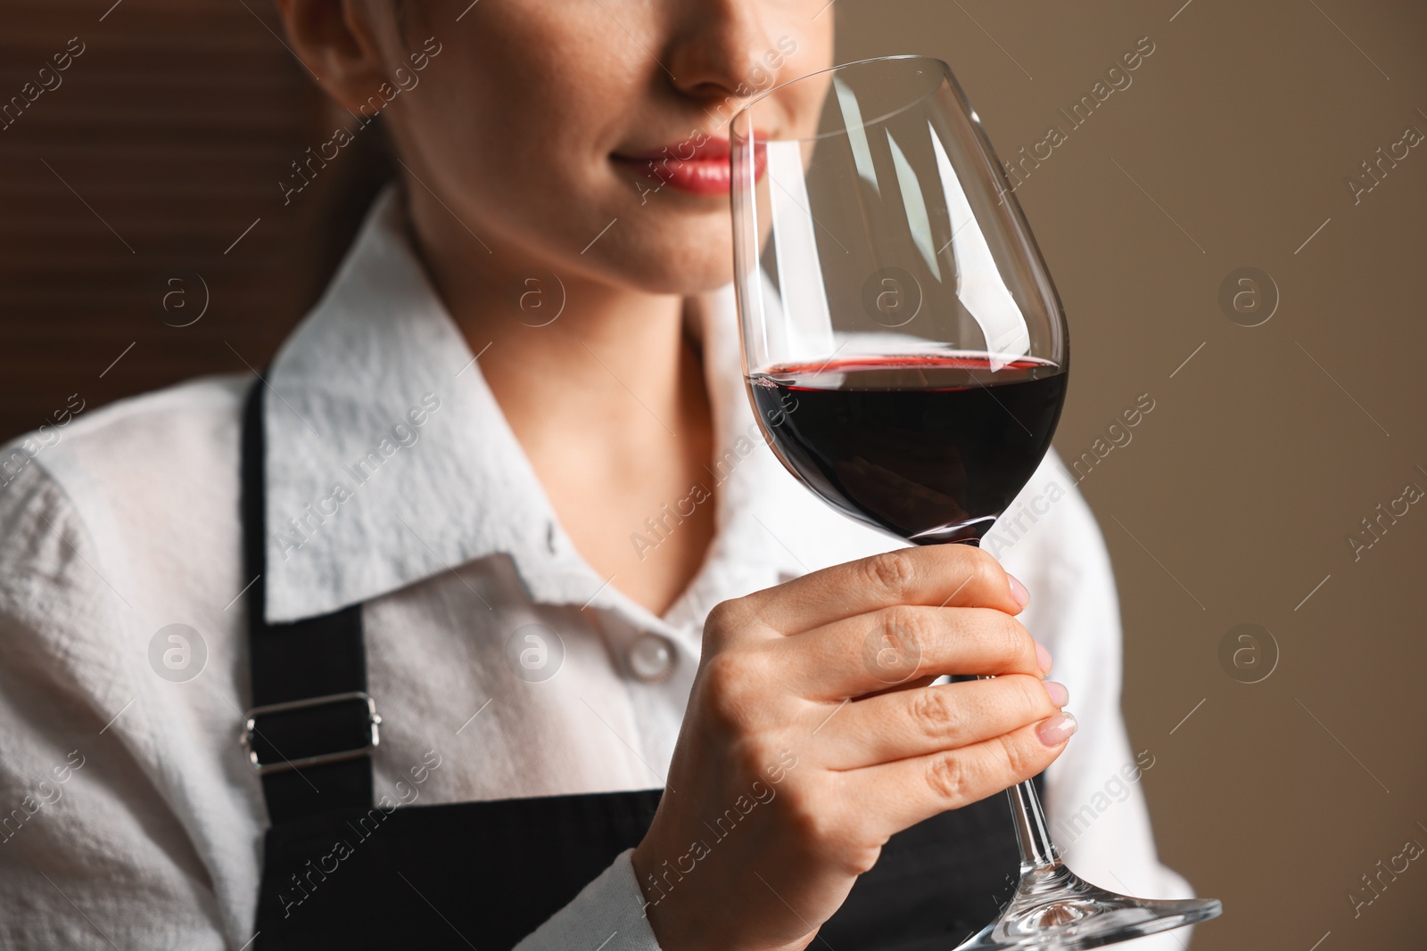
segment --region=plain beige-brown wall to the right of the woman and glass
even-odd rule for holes
[[[1067,133],[1017,188],[1072,328],[1056,445],[1156,401],[1082,489],[1162,854],[1226,907],[1196,950],[1421,948],[1427,857],[1357,917],[1349,893],[1427,845],[1427,502],[1359,560],[1347,535],[1427,490],[1427,143],[1359,204],[1344,178],[1427,133],[1427,7],[1180,3],[838,0],[839,58],[948,60],[1002,158]],[[1057,110],[1146,36],[1133,83],[1072,131]],[[1219,304],[1241,267],[1279,289],[1260,327]],[[1240,623],[1279,647],[1259,683],[1219,659]]]

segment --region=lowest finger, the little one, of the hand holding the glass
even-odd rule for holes
[[[1073,731],[1075,717],[1059,713],[956,750],[842,773],[843,791],[856,808],[876,817],[880,834],[893,836],[1029,780],[1065,751]]]

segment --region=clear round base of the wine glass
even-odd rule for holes
[[[1157,901],[1092,885],[1056,861],[1032,868],[1000,918],[956,951],[1077,951],[1206,921],[1223,913],[1217,898]]]

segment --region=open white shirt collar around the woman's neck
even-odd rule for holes
[[[805,570],[793,553],[805,522],[793,513],[816,508],[758,433],[732,288],[691,301],[689,314],[715,415],[718,533],[698,576],[656,619],[606,585],[561,529],[415,257],[401,192],[385,190],[268,375],[267,619],[328,613],[507,555],[535,602],[685,626],[718,600]]]

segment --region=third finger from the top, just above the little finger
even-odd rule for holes
[[[1049,720],[1065,703],[1063,692],[1012,674],[866,697],[828,717],[809,754],[826,768],[855,770],[956,750]]]

